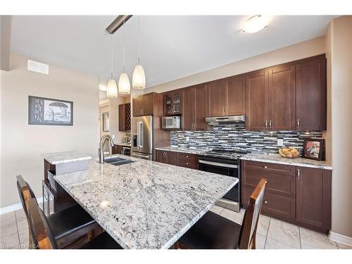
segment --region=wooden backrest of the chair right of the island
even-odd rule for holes
[[[266,179],[262,178],[247,204],[239,234],[239,249],[256,249],[256,231],[262,208]]]

